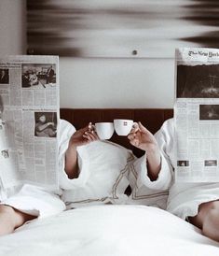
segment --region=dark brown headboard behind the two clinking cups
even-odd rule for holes
[[[114,119],[130,119],[141,121],[153,134],[157,132],[165,120],[172,118],[173,110],[169,108],[61,108],[61,118],[70,121],[76,129],[85,127],[89,121],[113,121]],[[132,147],[127,137],[116,133],[111,141],[133,150],[136,156],[142,156],[143,151]]]

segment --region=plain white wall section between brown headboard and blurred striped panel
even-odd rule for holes
[[[173,107],[174,60],[62,58],[62,107]]]

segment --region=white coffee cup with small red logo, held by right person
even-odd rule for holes
[[[114,127],[117,135],[126,136],[130,134],[130,130],[136,122],[125,119],[115,119]]]

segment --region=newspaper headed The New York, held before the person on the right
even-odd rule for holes
[[[175,181],[219,182],[219,50],[176,50]]]

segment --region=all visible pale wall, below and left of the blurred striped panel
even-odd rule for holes
[[[0,1],[0,54],[25,54],[25,0]],[[170,59],[60,59],[61,107],[172,107]]]

